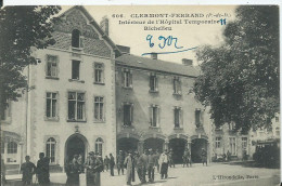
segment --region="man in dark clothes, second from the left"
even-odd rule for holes
[[[37,161],[37,177],[40,186],[50,185],[50,173],[49,173],[49,158],[44,157],[43,152],[39,154],[39,160]]]

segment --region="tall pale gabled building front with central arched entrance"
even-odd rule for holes
[[[34,50],[38,64],[25,70],[29,90],[8,109],[1,129],[8,164],[21,164],[25,155],[35,162],[42,151],[61,169],[75,154],[116,152],[114,58],[120,52],[85,8],[60,17],[56,43]]]

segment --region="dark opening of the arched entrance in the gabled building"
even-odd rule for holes
[[[85,158],[86,145],[81,137],[78,135],[72,136],[66,143],[66,158],[68,160],[72,160],[75,155],[82,155],[82,158]]]

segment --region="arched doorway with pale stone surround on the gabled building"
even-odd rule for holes
[[[88,150],[88,142],[81,134],[74,134],[69,136],[65,143],[65,159],[72,160],[75,155],[82,155],[85,161]]]

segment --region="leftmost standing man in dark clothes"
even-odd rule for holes
[[[33,175],[35,174],[36,167],[33,162],[30,162],[30,157],[26,156],[25,161],[22,167],[21,171],[23,173],[23,185],[31,185],[33,182]]]

